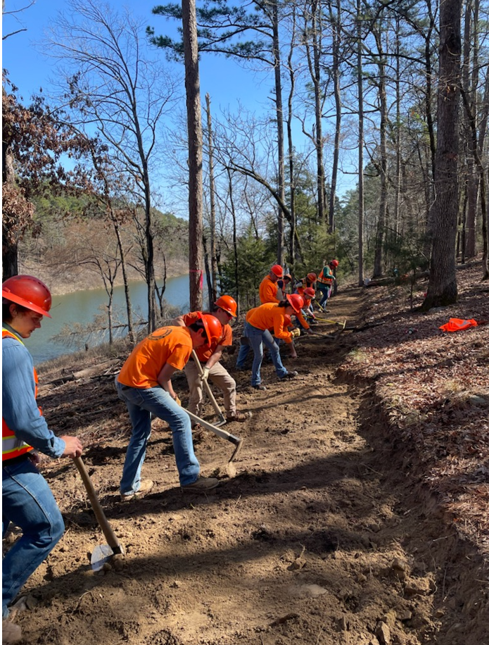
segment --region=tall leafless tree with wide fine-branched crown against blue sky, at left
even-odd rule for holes
[[[153,248],[155,145],[163,117],[177,99],[170,75],[144,55],[144,27],[95,0],[70,0],[51,28],[49,51],[63,63],[65,95],[80,127],[97,127],[109,154],[132,180],[132,199],[144,211],[144,277],[148,330],[157,324]]]

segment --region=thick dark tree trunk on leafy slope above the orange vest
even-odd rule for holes
[[[423,309],[457,301],[455,236],[459,208],[457,162],[460,24],[462,0],[440,4],[440,75],[438,79],[438,139],[436,146],[435,201],[433,202],[433,252],[428,292]]]

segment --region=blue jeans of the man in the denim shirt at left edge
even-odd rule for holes
[[[48,483],[30,459],[2,468],[2,537],[9,522],[22,537],[8,550],[2,563],[2,617],[8,616],[25,582],[58,544],[65,525]]]

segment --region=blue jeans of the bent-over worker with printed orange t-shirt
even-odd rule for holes
[[[193,452],[190,417],[163,387],[129,387],[115,378],[119,398],[125,401],[132,423],[132,435],[120,480],[122,495],[135,493],[141,485],[141,468],[151,435],[151,415],[163,419],[172,430],[175,461],[182,486],[198,480],[201,468]]]

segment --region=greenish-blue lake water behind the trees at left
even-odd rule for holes
[[[144,320],[147,320],[148,303],[147,289],[145,282],[131,282],[129,284],[132,308],[136,314],[141,313]],[[173,306],[177,306],[182,311],[189,311],[190,291],[189,276],[181,275],[172,277],[167,280],[165,289],[165,300]],[[40,330],[35,330],[30,338],[25,339],[25,346],[29,349],[34,359],[34,365],[49,361],[51,358],[57,358],[63,354],[78,351],[80,344],[77,346],[67,346],[66,344],[56,342],[52,338],[61,332],[63,325],[72,323],[86,324],[94,319],[94,316],[102,313],[101,306],[106,311],[107,294],[105,289],[89,289],[87,291],[77,291],[64,296],[53,296],[51,306],[52,318],[43,318]],[[125,297],[124,287],[116,287],[114,290],[114,308],[124,309],[125,318]],[[105,323],[107,322],[107,318]],[[127,333],[127,330],[125,330]],[[87,339],[81,340],[81,349]],[[89,345],[94,346],[96,341],[88,339]]]

